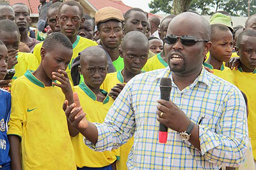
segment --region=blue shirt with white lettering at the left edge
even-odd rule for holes
[[[0,165],[10,162],[10,143],[7,138],[7,123],[10,118],[11,94],[0,89]]]

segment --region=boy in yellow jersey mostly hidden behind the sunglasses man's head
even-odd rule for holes
[[[164,45],[164,37],[166,36],[166,32],[168,29],[168,25],[170,24],[171,20],[175,17],[175,15],[168,15],[167,17],[163,18],[160,24],[160,38],[163,41]],[[163,69],[168,66],[167,57],[164,55],[164,49],[161,53],[157,53],[152,58],[148,59],[147,63],[143,67],[144,71],[152,71],[155,69]]]

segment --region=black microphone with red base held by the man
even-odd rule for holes
[[[170,101],[170,94],[172,90],[172,80],[168,77],[161,78],[160,81],[160,92],[161,99],[165,101]],[[166,143],[168,127],[163,124],[159,125],[159,143]]]

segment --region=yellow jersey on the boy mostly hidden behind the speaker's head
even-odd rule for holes
[[[161,53],[157,53],[154,57],[147,60],[143,70],[152,71],[155,69],[164,69],[167,66],[168,64],[162,59]]]

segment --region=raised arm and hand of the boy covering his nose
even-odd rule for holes
[[[53,85],[56,85],[58,87],[61,88],[63,94],[65,94],[65,104],[72,104],[74,103],[73,101],[73,91],[70,85],[70,81],[68,80],[68,74],[66,71],[63,71],[61,69],[58,70],[58,73],[56,72],[52,72],[52,78],[54,80],[57,80],[60,82],[60,84],[52,82]],[[63,106],[64,108],[64,106]],[[68,122],[68,131],[70,136],[74,137],[77,136],[77,134],[79,134],[79,132],[76,130],[76,128],[74,128],[70,122]]]

